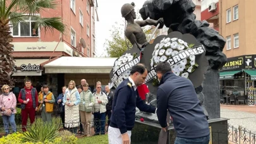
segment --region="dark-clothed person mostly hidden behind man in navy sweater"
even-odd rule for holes
[[[111,90],[109,90],[108,85],[105,86],[105,91],[106,91],[106,95],[107,95],[107,100],[109,100],[106,104],[107,129],[108,129],[109,124],[110,124],[111,114],[112,114],[111,111],[112,111],[112,103],[113,103],[114,93],[111,92]]]

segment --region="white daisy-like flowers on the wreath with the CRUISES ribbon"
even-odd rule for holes
[[[155,45],[155,50],[152,54],[151,66],[154,68],[160,62],[166,61],[169,58],[175,56],[176,54],[185,51],[186,49],[191,49],[194,44],[188,45],[178,38],[164,38],[160,43]],[[177,64],[171,66],[173,73],[177,76],[182,76],[188,78],[189,73],[193,73],[198,64],[195,63],[195,56],[187,57]]]

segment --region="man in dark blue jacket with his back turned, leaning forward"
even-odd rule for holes
[[[173,119],[177,133],[175,144],[208,144],[210,140],[209,124],[204,115],[190,80],[176,76],[167,62],[157,64],[155,68],[160,80],[157,88],[157,117],[162,129],[166,131],[167,110]]]

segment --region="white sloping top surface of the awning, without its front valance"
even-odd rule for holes
[[[45,64],[44,67],[56,67],[56,68],[63,68],[63,67],[87,67],[87,68],[113,68],[114,61],[116,61],[116,57],[70,57],[70,56],[63,56],[59,57],[58,59],[52,61],[51,63]]]

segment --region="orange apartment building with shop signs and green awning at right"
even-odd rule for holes
[[[256,86],[256,16],[254,0],[202,0],[201,19],[214,21],[226,39],[223,49],[228,62],[220,69],[222,85],[244,88]]]

